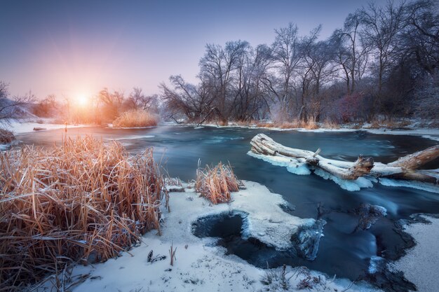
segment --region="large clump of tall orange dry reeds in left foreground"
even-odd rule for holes
[[[159,230],[167,196],[152,150],[92,137],[0,153],[0,291],[62,265],[118,256]]]

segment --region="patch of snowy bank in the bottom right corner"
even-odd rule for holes
[[[391,267],[404,272],[404,276],[417,286],[418,291],[435,292],[439,286],[439,218],[423,217],[431,224],[405,226],[405,232],[414,237],[416,245]]]

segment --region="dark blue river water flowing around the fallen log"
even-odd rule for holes
[[[60,142],[63,130],[22,134],[18,139],[25,144],[50,146]],[[374,184],[357,192],[343,190],[332,181],[320,176],[297,176],[252,158],[250,140],[255,134],[264,133],[275,141],[293,148],[322,148],[320,155],[338,160],[356,160],[358,154],[373,156],[375,161],[391,162],[398,157],[435,145],[435,141],[420,137],[374,135],[367,132],[275,132],[241,128],[213,128],[163,126],[142,130],[114,130],[99,127],[69,129],[69,136],[93,134],[104,140],[117,139],[128,151],[140,153],[146,147],[154,147],[156,159],[162,160],[170,176],[182,180],[195,179],[198,159],[201,165],[229,161],[239,179],[262,183],[274,193],[283,195],[295,206],[289,211],[302,218],[320,218],[327,221],[325,237],[320,241],[316,260],[299,260],[283,253],[273,253],[255,247],[250,242],[229,238],[224,243],[229,251],[246,258],[250,263],[271,266],[290,263],[306,265],[313,270],[337,274],[337,277],[359,279],[364,277],[372,256],[393,260],[400,256],[405,246],[400,234],[394,230],[395,222],[409,218],[414,213],[439,213],[439,195],[412,188],[395,188]],[[439,161],[429,165],[439,167]],[[356,230],[358,215],[353,213],[360,204],[376,204],[387,209],[387,216],[380,218],[368,230]],[[322,211],[323,210],[323,211]],[[236,218],[230,221],[236,229]],[[254,249],[249,248],[249,244]],[[249,252],[252,251],[252,252]],[[254,252],[253,252],[254,251]],[[254,253],[260,252],[255,255]],[[253,258],[253,259],[252,259]]]

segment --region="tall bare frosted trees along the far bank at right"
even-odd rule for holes
[[[275,29],[271,46],[208,44],[198,83],[160,85],[168,118],[349,123],[421,116],[438,122],[438,3],[369,4],[325,40],[296,25]]]

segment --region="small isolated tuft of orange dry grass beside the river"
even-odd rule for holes
[[[195,190],[213,204],[229,202],[231,192],[239,189],[240,182],[230,165],[219,162],[215,167],[206,165],[196,171]]]

